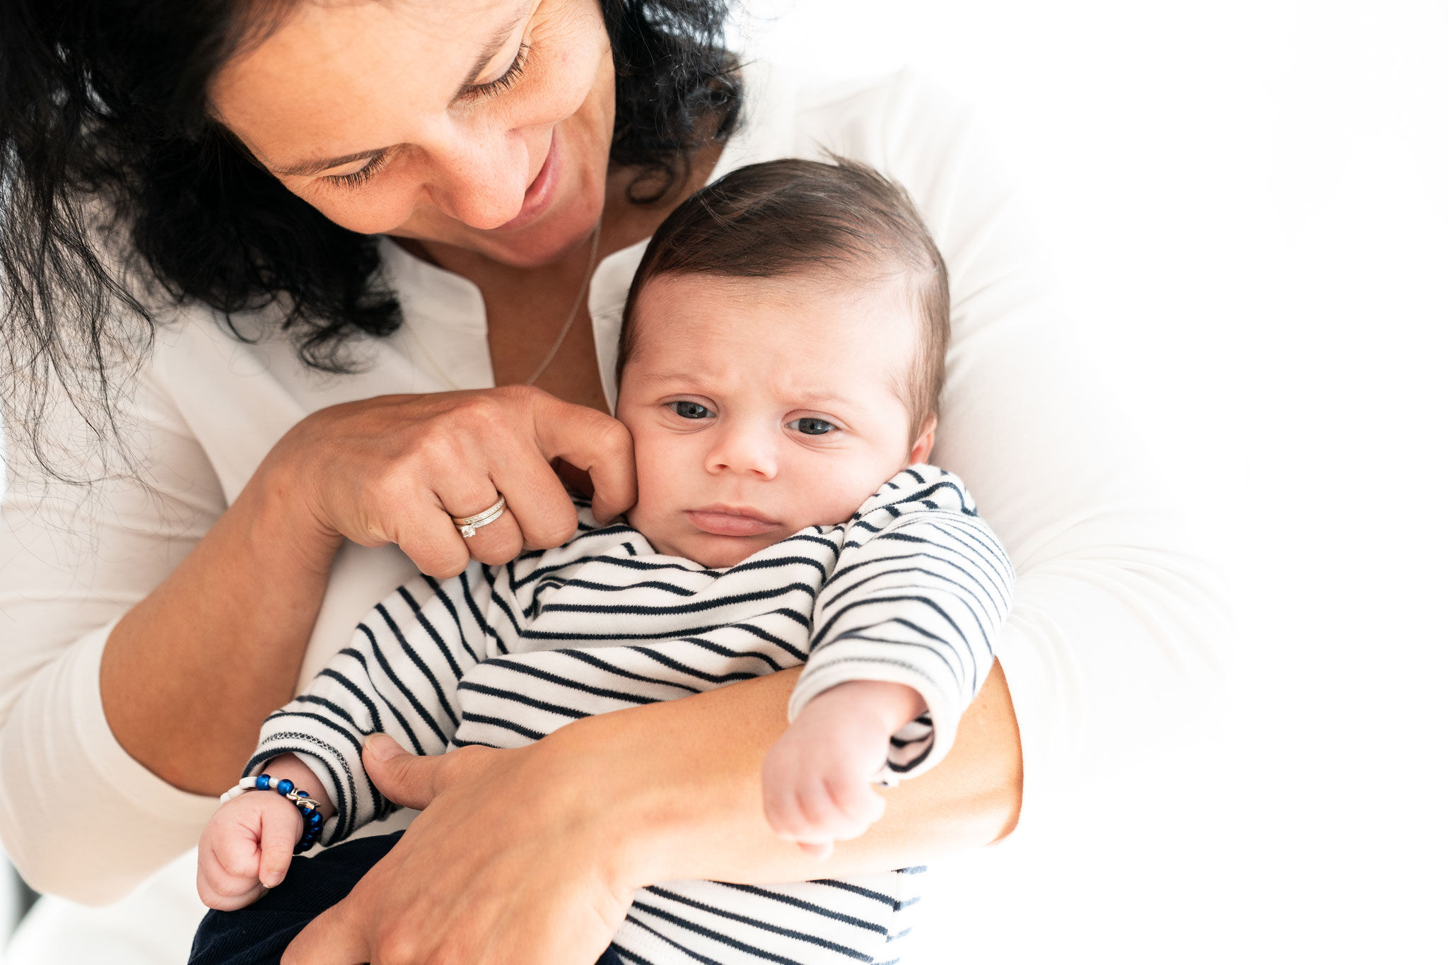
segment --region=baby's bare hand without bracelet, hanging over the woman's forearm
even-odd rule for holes
[[[820,859],[835,841],[863,835],[885,813],[870,784],[891,735],[922,710],[914,687],[873,680],[838,684],[807,703],[765,758],[769,826]]]

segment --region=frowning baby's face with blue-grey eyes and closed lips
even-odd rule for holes
[[[634,438],[628,521],[660,553],[728,567],[844,522],[924,462],[898,386],[919,321],[901,285],[663,275],[639,294],[618,386]]]

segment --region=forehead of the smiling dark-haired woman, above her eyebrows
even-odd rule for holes
[[[400,143],[511,56],[533,0],[298,3],[211,82],[213,110],[274,171]]]

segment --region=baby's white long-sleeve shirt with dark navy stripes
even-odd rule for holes
[[[964,485],[933,466],[727,570],[660,556],[579,506],[562,547],[420,576],[379,602],[266,719],[246,773],[301,757],[337,807],[321,838],[334,843],[392,810],[362,768],[366,734],[416,754],[515,748],[579,718],[805,664],[791,719],[847,680],[915,687],[927,712],[892,738],[883,774],[918,774],[950,748],[990,668],[1012,579]],[[637,894],[614,948],[640,965],[898,961],[919,871],[662,883]]]

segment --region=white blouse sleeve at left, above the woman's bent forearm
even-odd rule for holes
[[[180,791],[117,744],[100,697],[116,621],[224,509],[210,460],[145,376],[127,407],[142,480],[43,483],[14,441],[0,501],[0,842],[39,891],[125,896],[195,845],[216,799]],[[55,438],[74,433],[64,399]]]

